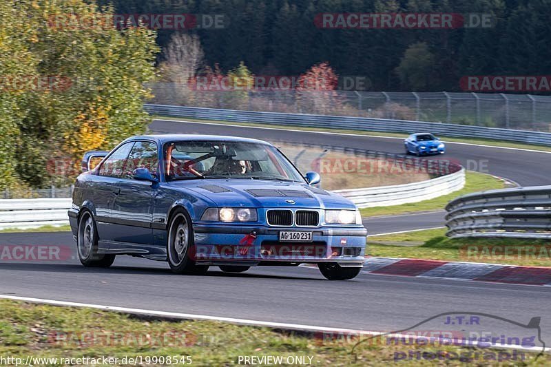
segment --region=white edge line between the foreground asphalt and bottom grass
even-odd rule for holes
[[[33,302],[33,303],[40,303],[40,304],[51,304],[53,306],[87,307],[87,308],[95,308],[103,311],[131,313],[134,315],[151,315],[151,316],[158,316],[158,317],[169,317],[174,319],[198,319],[198,320],[220,321],[220,322],[229,322],[231,324],[239,324],[239,325],[264,326],[269,328],[284,328],[287,330],[313,331],[313,332],[324,332],[324,333],[341,333],[341,334],[357,335],[357,336],[364,335],[364,336],[375,337],[377,335],[384,335],[386,337],[412,337],[413,339],[420,339],[420,338],[423,338],[424,340],[426,339],[426,337],[418,336],[418,335],[384,333],[380,331],[360,331],[360,330],[345,329],[345,328],[329,328],[324,326],[312,326],[312,325],[301,325],[301,324],[287,324],[284,322],[267,322],[267,321],[257,321],[257,320],[249,320],[249,319],[236,319],[232,317],[194,315],[190,313],[153,311],[153,310],[143,310],[141,308],[126,308],[126,307],[118,307],[118,306],[105,306],[101,304],[87,304],[87,303],[79,303],[79,302],[44,300],[41,298],[19,297],[16,295],[0,295],[0,299]],[[474,346],[478,345],[477,342],[473,342],[472,344]],[[508,344],[495,344],[493,345],[493,347],[527,350],[531,352],[541,352],[541,348],[538,348],[538,347],[523,347],[523,346],[508,345]],[[545,348],[545,351],[549,352],[551,351],[551,348]]]

